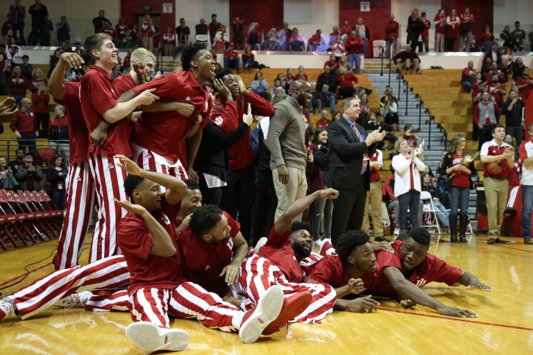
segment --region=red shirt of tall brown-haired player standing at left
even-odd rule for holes
[[[91,65],[89,72],[81,80],[81,110],[90,133],[103,121],[102,114],[117,105],[117,98],[119,94],[109,73],[96,65]],[[103,146],[95,147],[89,142],[89,153],[133,156],[128,119],[121,119],[109,126],[108,140]]]

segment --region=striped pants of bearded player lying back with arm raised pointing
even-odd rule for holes
[[[333,304],[337,300],[337,293],[330,285],[289,282],[278,266],[263,257],[259,257],[257,254],[244,259],[241,265],[239,285],[244,292],[244,297],[248,299],[242,302],[246,309],[257,304],[257,301],[264,295],[265,291],[273,285],[279,285],[283,288],[285,298],[304,291],[311,293],[312,301],[310,306],[296,316],[294,322],[320,322],[326,315],[332,313]],[[239,296],[234,291],[234,297],[237,298]]]

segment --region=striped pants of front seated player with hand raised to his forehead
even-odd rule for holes
[[[152,322],[163,328],[170,327],[170,314],[176,318],[196,318],[206,327],[236,331],[244,315],[219,295],[192,282],[184,282],[174,290],[141,288],[130,296],[130,303],[133,321]]]

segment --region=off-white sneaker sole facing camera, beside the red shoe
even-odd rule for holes
[[[245,344],[255,342],[263,330],[281,312],[283,306],[283,290],[281,286],[271,286],[257,302],[257,306],[250,318],[242,324],[239,337]]]

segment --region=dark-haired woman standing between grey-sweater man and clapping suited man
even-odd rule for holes
[[[327,114],[327,112],[326,112]],[[328,148],[328,130],[317,127],[314,138],[309,148],[312,152],[313,161],[307,161],[307,187],[310,193],[327,189],[329,184],[330,150]],[[314,241],[320,239],[320,225],[323,217],[324,239],[331,239],[331,220],[333,213],[333,201],[314,200],[314,215],[312,216],[312,237]]]

